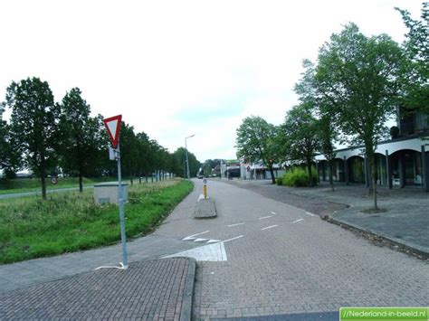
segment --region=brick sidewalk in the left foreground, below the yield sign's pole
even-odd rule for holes
[[[189,320],[195,260],[133,263],[0,294],[0,319]]]

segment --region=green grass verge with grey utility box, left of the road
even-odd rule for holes
[[[127,237],[152,231],[193,189],[167,180],[129,187],[125,205]],[[0,200],[0,263],[86,250],[120,241],[116,205],[98,206],[92,191]]]

